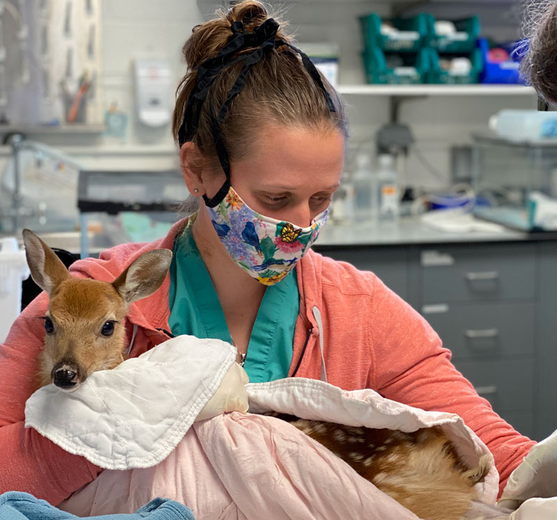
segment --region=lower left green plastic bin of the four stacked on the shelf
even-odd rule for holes
[[[430,60],[420,49],[415,54],[398,54],[403,61],[402,67],[389,68],[387,56],[378,47],[363,52],[363,65],[366,70],[366,81],[370,84],[410,85],[425,83]]]

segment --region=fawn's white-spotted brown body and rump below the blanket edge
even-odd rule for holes
[[[467,468],[441,427],[401,432],[306,420],[284,413],[286,420],[343,459],[356,473],[424,520],[464,518],[489,471],[489,456]],[[478,508],[491,507],[477,504]],[[501,510],[499,511],[501,513]],[[466,517],[469,518],[469,517]],[[483,516],[473,516],[478,520]],[[489,516],[492,518],[492,516]]]

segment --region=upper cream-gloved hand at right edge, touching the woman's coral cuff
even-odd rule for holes
[[[528,455],[510,474],[499,505],[516,509],[528,498],[534,497],[557,497],[557,431],[532,446]],[[557,507],[557,502],[555,504]],[[557,508],[554,518],[557,519]]]

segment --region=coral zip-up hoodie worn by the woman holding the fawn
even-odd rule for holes
[[[74,276],[113,281],[141,253],[172,249],[185,220],[163,239],[123,244],[98,260],[72,265]],[[510,472],[534,442],[505,423],[450,363],[429,324],[370,272],[310,251],[297,269],[300,294],[290,376],[323,379],[354,390],[372,388],[391,400],[425,410],[459,414],[492,451],[501,475]],[[130,306],[127,339],[136,325],[130,356],[168,339],[168,287]],[[25,401],[33,393],[43,346],[48,298],[43,292],[17,318],[0,346],[0,493],[26,491],[53,505],[102,471],[24,427]],[[324,363],[324,366],[323,366]]]

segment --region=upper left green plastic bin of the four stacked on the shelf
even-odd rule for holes
[[[401,33],[382,34],[383,20],[376,13],[359,17],[363,46],[366,51],[376,47],[385,52],[418,52],[427,36],[427,16],[416,15],[411,18],[392,18],[395,29]]]

